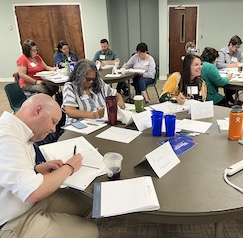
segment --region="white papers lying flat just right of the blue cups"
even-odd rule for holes
[[[193,121],[189,119],[183,119],[180,123],[180,129],[199,133],[206,133],[211,126],[212,123],[210,122]]]

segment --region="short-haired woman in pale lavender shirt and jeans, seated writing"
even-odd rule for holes
[[[133,78],[133,83],[136,91],[136,95],[142,94],[145,103],[149,104],[149,97],[147,94],[147,85],[154,82],[155,77],[155,61],[154,58],[149,55],[148,46],[145,43],[140,43],[136,47],[137,53],[134,54],[127,63],[122,67],[124,68],[134,68],[134,69],[144,69],[145,72],[141,74],[136,74]]]

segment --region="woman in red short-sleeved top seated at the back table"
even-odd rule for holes
[[[28,92],[54,95],[58,91],[58,86],[45,85],[42,79],[35,76],[35,74],[43,70],[55,71],[56,68],[46,65],[38,55],[38,49],[34,41],[24,41],[22,50],[23,55],[17,60],[20,87]]]

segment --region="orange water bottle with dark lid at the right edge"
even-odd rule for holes
[[[242,121],[243,111],[239,105],[232,106],[229,117],[229,132],[230,140],[241,140],[242,137]]]

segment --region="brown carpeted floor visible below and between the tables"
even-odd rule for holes
[[[0,115],[4,110],[11,112],[8,99],[3,90],[6,83],[0,83]],[[160,93],[163,81],[157,82]],[[148,93],[152,103],[158,103],[154,88]],[[243,196],[243,195],[242,195]],[[100,238],[213,238],[214,224],[167,225],[124,218],[122,216],[94,220],[100,231]],[[243,219],[224,223],[222,238],[242,238]]]

